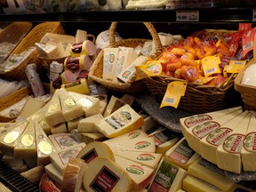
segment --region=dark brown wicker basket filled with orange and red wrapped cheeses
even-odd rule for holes
[[[203,36],[206,32],[207,30],[204,30],[202,33],[196,34],[196,36]],[[213,32],[216,31],[213,30]],[[226,33],[227,31],[224,32]],[[212,37],[212,31],[210,36]],[[206,113],[241,104],[241,98],[234,89],[235,77],[236,74],[232,74],[218,85],[189,82],[185,95],[180,99],[179,108],[193,113]],[[167,85],[173,81],[183,80],[170,76],[152,76],[144,79],[144,81],[148,86],[149,92],[156,97],[156,100],[161,102]]]

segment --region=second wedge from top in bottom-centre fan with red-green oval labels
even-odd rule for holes
[[[156,152],[156,143],[153,138],[142,138],[137,140],[131,141],[124,141],[118,143],[107,143],[109,148],[116,153],[118,150],[123,151],[140,151],[140,152],[149,152],[155,153]]]

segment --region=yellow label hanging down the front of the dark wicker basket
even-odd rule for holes
[[[178,108],[180,98],[185,95],[188,82],[174,81],[167,86],[160,108],[171,106]]]

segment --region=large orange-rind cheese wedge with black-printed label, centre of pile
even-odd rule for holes
[[[111,115],[101,119],[95,126],[106,137],[113,138],[139,129],[143,124],[142,116],[137,114],[128,104],[125,104]]]

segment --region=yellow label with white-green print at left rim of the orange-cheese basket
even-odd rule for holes
[[[159,60],[149,60],[145,64],[135,66],[135,68],[136,81],[148,76],[160,76],[162,73],[162,65]]]

